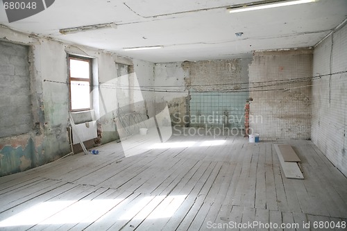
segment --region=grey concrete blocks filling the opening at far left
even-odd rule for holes
[[[0,42],[0,137],[33,127],[28,46]]]

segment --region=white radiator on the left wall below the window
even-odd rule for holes
[[[76,130],[73,130],[72,132],[72,139],[74,141],[74,144],[78,144],[80,142],[75,134],[76,132],[78,134],[78,137],[81,138],[81,142],[96,138],[98,136],[96,132],[96,121],[76,124]]]

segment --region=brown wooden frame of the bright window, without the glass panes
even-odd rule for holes
[[[89,78],[71,77],[70,60],[80,60],[80,61],[88,62]],[[89,83],[90,92],[92,92],[92,58],[81,57],[81,56],[77,56],[77,55],[68,55],[67,56],[67,65],[69,68],[68,72],[69,72],[69,109],[70,109],[70,112],[83,112],[83,111],[92,110],[92,99],[90,99],[90,107],[89,108],[72,109],[72,102],[71,102],[71,81]]]

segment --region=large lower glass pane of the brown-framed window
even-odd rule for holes
[[[71,110],[90,108],[90,85],[84,81],[71,81]]]

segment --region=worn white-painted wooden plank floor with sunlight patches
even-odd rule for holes
[[[0,230],[347,230],[314,229],[347,221],[347,179],[312,142],[285,142],[305,180],[284,177],[274,142],[174,136],[130,157],[107,144],[0,178]]]

